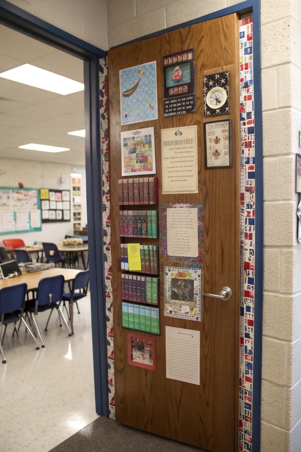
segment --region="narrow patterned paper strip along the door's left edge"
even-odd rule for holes
[[[108,128],[108,71],[107,58],[99,60],[99,108],[102,149],[102,227],[103,256],[106,284],[106,320],[107,320],[107,366],[109,416],[115,419],[114,386],[114,330],[111,286],[111,218],[110,218],[110,167],[109,167],[109,128]]]

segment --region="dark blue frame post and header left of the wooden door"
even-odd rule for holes
[[[109,415],[105,286],[102,243],[102,167],[99,117],[99,58],[106,52],[48,24],[8,1],[0,0],[0,23],[83,60],[85,160],[91,287],[93,366],[97,414]]]

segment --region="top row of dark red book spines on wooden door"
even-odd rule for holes
[[[158,178],[137,177],[118,179],[118,200],[120,205],[157,204]]]

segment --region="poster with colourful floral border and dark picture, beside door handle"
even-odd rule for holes
[[[164,315],[201,321],[201,271],[164,267]]]

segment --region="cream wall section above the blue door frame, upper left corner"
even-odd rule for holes
[[[7,0],[77,38],[107,50],[107,0]]]

